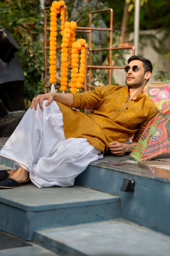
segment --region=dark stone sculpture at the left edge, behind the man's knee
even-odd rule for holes
[[[0,29],[0,137],[8,137],[26,112],[24,74],[16,51],[18,45],[6,28]]]

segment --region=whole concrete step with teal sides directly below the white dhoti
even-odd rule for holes
[[[35,230],[113,218],[120,218],[119,196],[89,188],[32,184],[0,190],[0,230],[27,241]]]

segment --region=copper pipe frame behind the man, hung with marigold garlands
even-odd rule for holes
[[[66,21],[66,5],[63,5],[64,7],[64,22]],[[46,10],[50,9],[50,7],[46,7],[44,9],[44,65],[45,65],[45,93],[47,93],[47,88],[50,88],[51,86],[47,85],[47,73],[49,67],[47,66],[47,50],[49,50],[49,47],[47,47],[47,31],[50,29],[47,28],[47,13]],[[97,12],[110,12],[110,28],[92,28],[92,14]],[[100,48],[100,49],[92,49],[92,31],[109,31],[110,32],[110,46],[109,48]],[[61,29],[57,29],[57,31],[61,31]],[[91,90],[95,86],[91,85],[91,77],[92,77],[92,69],[109,69],[109,84],[111,84],[112,79],[112,70],[113,69],[123,69],[124,67],[116,67],[112,66],[112,51],[114,50],[122,50],[122,49],[132,49],[132,55],[135,55],[135,47],[134,46],[127,46],[127,47],[112,47],[113,41],[113,9],[105,9],[105,10],[97,10],[92,11],[89,13],[89,27],[77,27],[76,32],[85,32],[89,33],[89,65],[87,65],[87,44],[85,45],[85,82],[83,89],[85,91]],[[57,49],[60,49],[61,46],[57,46]],[[94,66],[92,65],[92,52],[98,52],[98,51],[109,51],[109,66]],[[71,69],[71,67],[68,67]],[[61,69],[61,67],[57,67],[57,69]],[[87,86],[87,72],[89,71],[89,85]],[[70,88],[70,86],[67,86]],[[55,88],[60,88],[60,86],[55,85]]]

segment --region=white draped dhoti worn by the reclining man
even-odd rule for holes
[[[38,187],[69,187],[88,164],[103,157],[85,138],[66,139],[63,114],[53,101],[43,110],[29,108],[0,156],[12,159],[13,168],[23,167]]]

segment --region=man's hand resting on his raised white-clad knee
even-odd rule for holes
[[[43,109],[43,107],[42,107],[43,100],[48,100],[45,104],[46,106],[48,106],[54,100],[54,93],[48,92],[48,93],[45,93],[45,94],[37,95],[31,103],[31,108],[33,108],[33,106],[34,106],[34,109],[36,110],[37,109],[37,104],[39,103],[40,108]]]

